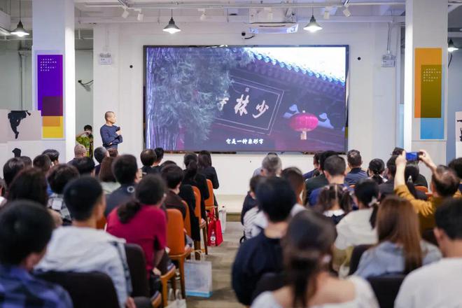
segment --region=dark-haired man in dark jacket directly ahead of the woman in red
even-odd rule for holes
[[[106,196],[104,216],[108,216],[113,209],[133,198],[137,181],[139,181],[137,159],[133,155],[118,156],[113,162],[112,172],[120,187]]]

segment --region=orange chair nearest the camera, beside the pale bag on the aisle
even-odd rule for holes
[[[178,262],[180,269],[181,295],[186,298],[185,287],[185,259],[190,255],[191,248],[185,249],[185,235],[183,215],[177,209],[167,209],[167,247],[170,248],[169,256]]]

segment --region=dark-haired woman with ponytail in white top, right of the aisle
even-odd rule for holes
[[[349,272],[351,251],[354,246],[377,243],[375,219],[379,186],[370,179],[363,179],[356,183],[353,199],[358,205],[358,211],[349,212],[337,224],[332,267],[339,271],[340,276],[346,276]]]

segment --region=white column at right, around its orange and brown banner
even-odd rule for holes
[[[406,0],[405,42],[405,115],[406,151],[426,149],[437,164],[446,163],[447,142],[447,0]],[[442,104],[444,137],[421,139],[421,119],[414,117],[415,48],[442,48]],[[428,172],[422,168],[422,173]]]

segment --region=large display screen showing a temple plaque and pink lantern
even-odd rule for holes
[[[146,147],[346,148],[348,46],[145,46]]]

